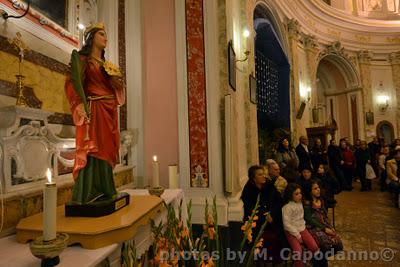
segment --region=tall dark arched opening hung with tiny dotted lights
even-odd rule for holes
[[[276,132],[290,132],[290,66],[271,11],[254,10],[257,123],[260,162],[272,155]]]

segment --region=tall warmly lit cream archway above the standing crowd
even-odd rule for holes
[[[336,46],[340,48],[340,43]],[[317,106],[325,118],[322,123],[336,123],[336,137],[354,142],[361,136],[362,123],[362,92],[354,66],[342,55],[327,54],[318,63],[316,78]]]

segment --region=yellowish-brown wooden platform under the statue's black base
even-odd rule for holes
[[[57,207],[57,232],[69,236],[68,245],[97,249],[129,240],[142,225],[150,223],[165,208],[156,196],[130,196],[130,205],[103,217],[65,217],[65,206]],[[43,235],[43,213],[21,219],[17,241],[27,243]]]

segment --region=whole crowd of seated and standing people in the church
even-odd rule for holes
[[[340,139],[338,145],[332,139],[328,147],[318,138],[313,141],[309,148],[308,138],[301,136],[294,149],[290,140],[283,138],[274,159],[268,159],[265,166],[251,166],[248,171],[249,180],[241,197],[244,220],[251,216],[258,199],[253,235],[267,221],[262,242],[268,261],[275,264],[283,261],[280,252],[284,248],[290,248],[294,255],[302,255],[304,249],[314,255],[343,249],[327,209],[337,204],[336,194],[354,190],[353,183],[361,183],[363,192],[371,191],[371,180],[377,178],[380,190],[388,191],[399,205],[400,139],[390,145],[375,137],[368,144],[356,140],[354,145],[349,138]],[[262,262],[265,260],[258,264]],[[294,264],[303,266],[304,261],[297,257]],[[327,266],[326,258],[315,257],[313,266]]]

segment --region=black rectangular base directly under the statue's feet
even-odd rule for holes
[[[101,217],[129,205],[129,194],[119,192],[114,198],[84,205],[65,204],[65,217]]]

